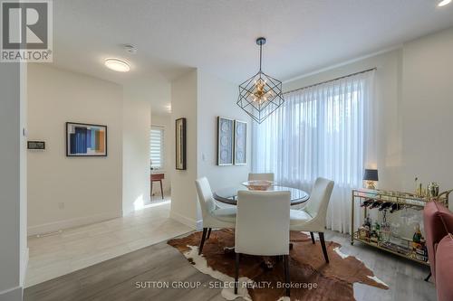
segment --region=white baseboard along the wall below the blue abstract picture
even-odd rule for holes
[[[99,214],[94,214],[90,216],[84,216],[80,218],[75,218],[65,221],[53,221],[48,223],[43,223],[41,225],[28,227],[28,236],[50,233],[58,230],[69,229],[73,227],[79,227],[84,225],[89,225],[94,222],[107,221],[115,219],[122,216],[122,212],[104,212]]]

